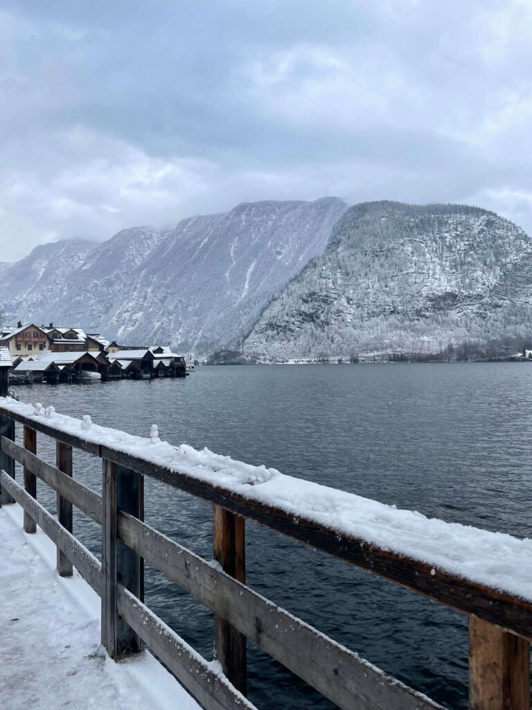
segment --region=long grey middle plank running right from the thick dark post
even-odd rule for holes
[[[117,522],[126,545],[340,708],[440,708],[149,525]]]

